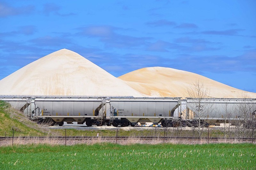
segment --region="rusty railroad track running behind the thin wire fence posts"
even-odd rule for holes
[[[40,137],[27,137],[27,136],[23,136],[23,137],[0,137],[0,140],[12,140],[13,139],[21,139],[21,140],[45,140],[45,139],[56,139],[56,140],[61,140],[61,139],[64,139],[64,140],[90,140],[90,139],[97,139],[97,138],[100,138],[100,139],[117,139],[117,140],[125,140],[125,139],[129,139],[129,138],[139,138],[140,140],[208,140],[207,137],[204,137],[204,138],[198,138],[198,137],[128,137],[128,136],[40,136]],[[209,138],[209,140],[215,140],[215,141],[218,141],[218,140],[238,140],[238,141],[255,141],[256,138]]]

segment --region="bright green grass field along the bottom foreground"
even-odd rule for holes
[[[0,169],[255,169],[255,166],[254,144],[0,147]]]

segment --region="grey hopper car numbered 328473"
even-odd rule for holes
[[[73,98],[36,98],[35,104],[41,109],[41,116],[50,117],[57,124],[63,122],[84,124],[87,126],[97,123],[102,98],[73,97]]]

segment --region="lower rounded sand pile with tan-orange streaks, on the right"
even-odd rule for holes
[[[245,92],[199,74],[166,67],[147,67],[118,77],[133,89],[153,97],[194,97],[193,84],[204,84],[209,96],[216,98],[256,98],[256,93]],[[192,90],[193,89],[193,90]],[[196,96],[195,96],[196,97]]]

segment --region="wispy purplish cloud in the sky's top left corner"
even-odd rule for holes
[[[13,15],[25,15],[34,12],[35,6],[27,5],[22,7],[12,7],[0,2],[0,17],[8,17]]]

